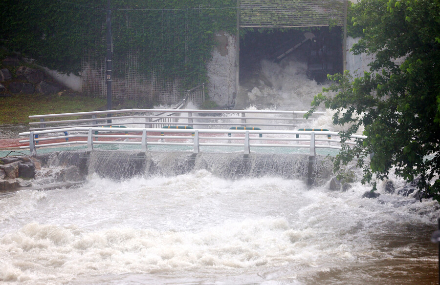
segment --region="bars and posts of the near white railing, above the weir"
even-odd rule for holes
[[[66,135],[64,137],[55,136],[51,138],[39,138],[38,136],[41,134],[50,134],[50,133],[60,133],[60,132],[75,132],[75,131],[84,131],[88,132],[88,134],[73,134],[73,135]],[[108,133],[114,133],[114,132],[125,132],[126,135],[109,135]],[[95,132],[95,133],[94,133]],[[101,134],[97,134],[97,132],[101,132]],[[105,132],[103,134],[103,132]],[[135,133],[142,133],[142,135],[129,135],[129,132],[135,132]],[[163,133],[180,133],[183,134],[183,136],[163,136]],[[150,133],[150,134],[148,134]],[[153,133],[153,134],[152,134]],[[162,133],[160,136],[158,136],[155,133]],[[191,136],[186,136],[187,133],[191,133]],[[208,136],[208,137],[200,137],[200,134],[224,134],[230,135],[230,134],[244,134],[243,137],[234,137],[230,138],[225,136]],[[261,135],[259,138],[251,138],[251,134],[262,134],[262,135],[268,135],[268,134],[279,134],[279,135],[309,135],[310,138],[292,138],[292,137],[271,137],[271,138],[263,138]],[[22,140],[20,142],[29,142],[29,146],[21,146],[20,148],[29,148],[31,151],[31,154],[36,153],[37,147],[46,147],[46,146],[58,146],[58,145],[66,145],[66,144],[77,144],[77,143],[83,143],[88,145],[88,151],[93,150],[93,144],[101,143],[101,144],[140,144],[142,147],[142,151],[146,152],[148,150],[147,145],[148,144],[164,144],[164,145],[193,145],[194,147],[194,154],[198,154],[199,147],[200,146],[241,146],[244,147],[244,154],[248,155],[250,153],[250,147],[309,147],[310,148],[310,156],[315,156],[315,149],[316,148],[330,148],[330,149],[342,149],[341,146],[334,146],[330,145],[330,142],[339,142],[338,140],[331,140],[331,139],[315,139],[315,136],[317,135],[333,135],[333,136],[340,136],[338,132],[331,132],[331,131],[298,131],[298,130],[240,130],[240,129],[166,129],[163,128],[123,128],[117,129],[117,128],[101,128],[101,127],[73,127],[73,128],[63,128],[63,129],[56,129],[56,130],[43,130],[43,131],[36,131],[36,132],[23,132],[20,133],[20,136],[29,136],[28,140]],[[70,141],[68,142],[52,142],[52,143],[46,143],[46,144],[40,144],[37,145],[36,142],[38,141],[48,141],[48,140],[54,140],[54,139],[60,139],[60,138],[72,138],[72,137],[87,137],[87,141]],[[141,139],[140,142],[120,142],[120,141],[94,141],[96,138],[137,138]],[[163,139],[192,139],[193,142],[148,142],[148,138],[150,139],[157,139],[160,138]],[[365,139],[365,136],[359,136],[359,135],[352,135],[351,138],[354,139]],[[207,143],[207,142],[200,142],[200,139],[203,140],[229,140],[228,143]],[[243,141],[243,143],[237,143],[237,142],[231,142],[230,140],[239,140]],[[276,143],[260,143],[260,144],[252,144],[250,143],[251,140],[260,140],[264,142],[265,140],[272,140],[272,141],[286,141],[286,142],[292,142],[292,141],[299,141],[299,142],[309,142],[309,144],[276,144]],[[328,142],[328,145],[316,145],[316,142]],[[356,142],[344,142],[346,144],[356,144]]]

